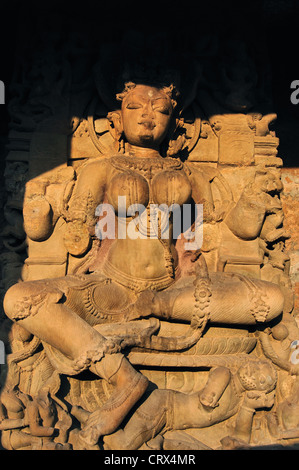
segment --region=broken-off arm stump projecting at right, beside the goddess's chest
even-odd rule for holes
[[[231,232],[244,240],[254,240],[262,230],[267,214],[281,211],[281,201],[272,192],[281,190],[277,178],[267,171],[257,171],[254,180],[244,188],[240,199],[225,218]]]

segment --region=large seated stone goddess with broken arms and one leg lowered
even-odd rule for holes
[[[117,429],[148,383],[94,328],[97,324],[150,315],[190,323],[195,314],[199,322],[253,325],[280,315],[284,302],[277,285],[244,276],[206,273],[202,279],[200,275],[180,278],[172,218],[168,238],[161,236],[161,224],[153,236],[150,209],[162,204],[209,207],[209,184],[201,171],[160,154],[174,118],[172,87],[130,84],[120,99],[121,110],[112,114],[112,120],[117,135],[125,137],[126,151],[82,168],[69,203],[65,243],[74,255],[88,251],[96,208],[107,200],[117,222],[124,224],[122,230],[136,217],[128,214],[128,208],[144,207],[138,219],[143,236],[115,239],[101,272],[21,282],[8,290],[4,300],[8,317],[59,351],[69,361],[70,373],[89,368],[115,386],[107,403],[86,424],[88,429],[97,423],[97,436]],[[250,220],[252,233],[247,235],[253,239],[262,227],[265,201],[246,205],[248,195],[244,198],[228,214],[227,225],[231,227],[234,218]],[[125,217],[121,217],[120,200]],[[39,217],[44,223],[40,219],[36,223]],[[50,233],[51,210],[45,200],[39,210],[36,201],[33,206],[28,203],[24,219],[29,238],[44,239],[47,227]]]

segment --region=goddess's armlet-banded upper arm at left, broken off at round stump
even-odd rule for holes
[[[103,202],[107,181],[106,160],[87,164],[81,171],[66,213],[64,243],[69,253],[80,256],[88,251],[94,236],[98,204]]]

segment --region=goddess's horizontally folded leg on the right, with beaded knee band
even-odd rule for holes
[[[213,323],[253,325],[271,321],[283,311],[284,295],[276,284],[228,273],[213,273],[210,278],[209,320]],[[153,314],[191,322],[195,307],[193,281],[194,277],[183,288],[156,293]]]

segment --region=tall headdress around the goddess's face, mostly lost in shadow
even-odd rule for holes
[[[186,54],[174,51],[167,35],[145,35],[129,32],[122,41],[105,44],[94,66],[95,86],[100,101],[106,106],[110,123],[117,119],[119,101],[136,85],[149,85],[164,90],[175,109],[169,131],[168,155],[183,148],[190,150],[200,132],[200,118],[194,119],[193,137],[185,139],[183,113],[194,102],[200,77],[198,63]],[[112,123],[113,128],[113,123]],[[120,136],[114,136],[116,140]],[[98,146],[94,135],[95,144]]]

